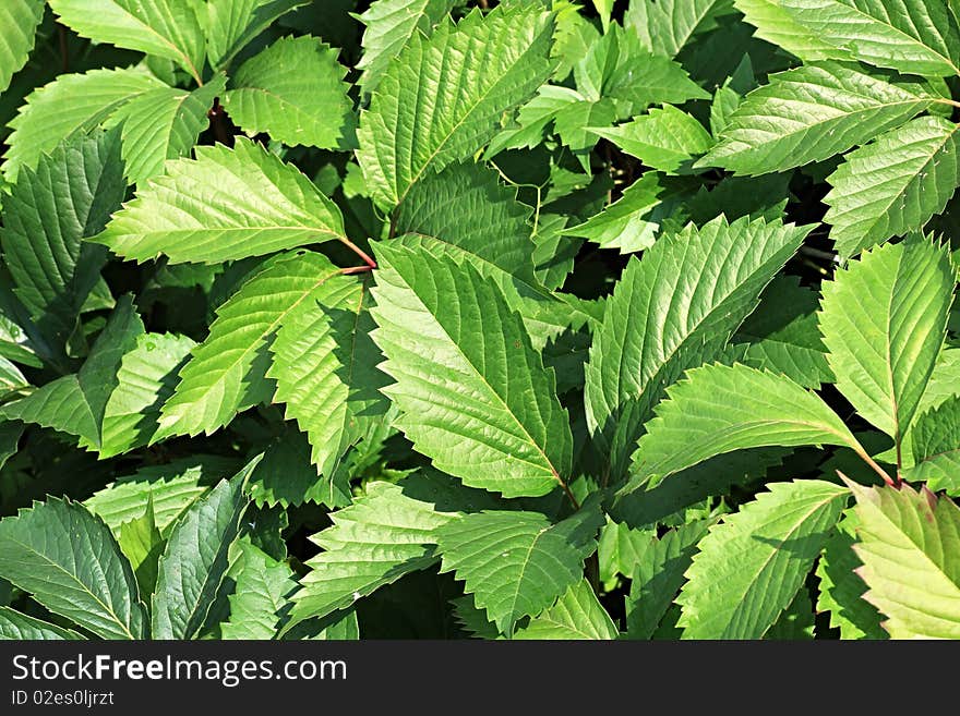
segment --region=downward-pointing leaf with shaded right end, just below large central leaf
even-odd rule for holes
[[[497,629],[512,634],[518,619],[552,606],[583,579],[601,523],[589,509],[559,524],[537,512],[465,514],[436,532],[441,571],[455,572]]]

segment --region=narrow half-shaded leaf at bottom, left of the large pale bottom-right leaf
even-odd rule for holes
[[[713,523],[698,520],[641,543],[629,572],[626,623],[631,639],[650,639],[657,631],[683,586],[697,543]]]

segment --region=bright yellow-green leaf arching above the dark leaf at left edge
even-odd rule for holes
[[[13,133],[7,138],[3,175],[14,182],[21,167],[36,167],[41,155],[77,130],[97,126],[125,102],[164,86],[136,68],[60,75],[27,95],[10,122]]]

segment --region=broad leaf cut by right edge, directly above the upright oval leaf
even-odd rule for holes
[[[917,231],[960,184],[957,125],[919,117],[847,155],[827,178],[824,221],[841,258]]]

